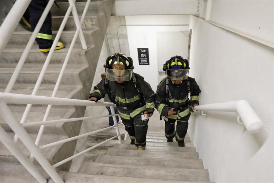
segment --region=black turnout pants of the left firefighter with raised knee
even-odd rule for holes
[[[123,124],[125,125],[125,130],[128,132],[128,135],[133,140],[135,137],[136,146],[145,146],[146,145],[146,133],[148,131],[148,119],[142,120],[141,114],[138,114],[130,120],[122,119]]]

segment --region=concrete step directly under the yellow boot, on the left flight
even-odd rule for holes
[[[25,45],[9,45],[3,50],[0,55],[0,63],[18,63]],[[69,45],[61,50],[56,50],[53,53],[51,62],[53,64],[61,64],[64,62],[65,57],[68,53]],[[88,45],[87,50],[83,50],[79,45],[75,45],[72,49],[68,63],[70,64],[83,64],[86,63],[86,52],[94,52],[94,45]],[[39,51],[38,45],[35,43],[33,48],[30,50],[25,63],[44,64],[48,53],[42,53]]]

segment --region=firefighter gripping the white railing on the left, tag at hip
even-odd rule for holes
[[[98,101],[108,94],[118,108],[118,113],[125,125],[131,143],[138,150],[144,150],[148,120],[154,112],[155,93],[144,78],[133,73],[132,58],[115,53],[106,59],[104,77],[88,100]]]

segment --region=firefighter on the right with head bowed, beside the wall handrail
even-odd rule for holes
[[[187,59],[177,55],[171,57],[164,64],[166,78],[157,86],[155,96],[155,108],[161,118],[164,116],[167,142],[172,142],[175,136],[178,146],[182,147],[185,146],[184,138],[188,130],[190,111],[193,112],[193,107],[199,105],[201,92],[195,79],[188,77],[189,69]]]

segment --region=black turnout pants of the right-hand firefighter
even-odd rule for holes
[[[177,119],[176,131],[175,131],[175,119],[169,119],[165,117],[165,134],[166,138],[172,140],[174,137],[176,141],[182,142],[188,131],[188,119],[190,114],[184,118]]]

